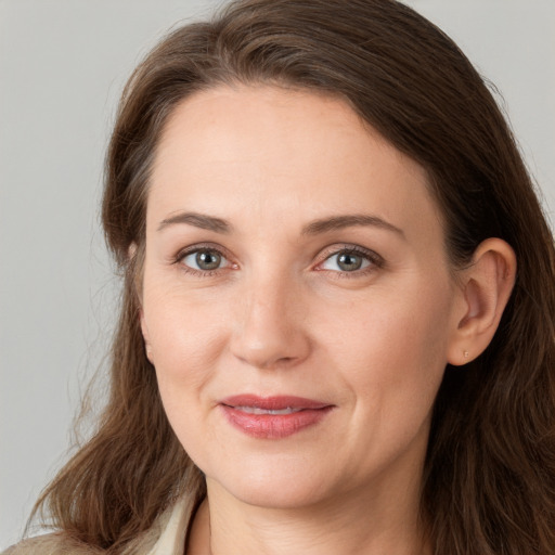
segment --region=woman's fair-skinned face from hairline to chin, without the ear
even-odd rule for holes
[[[271,87],[182,102],[142,295],[209,491],[285,507],[417,490],[462,294],[425,171],[346,103]]]

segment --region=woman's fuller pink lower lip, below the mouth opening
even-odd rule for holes
[[[250,414],[227,404],[223,409],[228,422],[247,436],[259,439],[281,439],[317,425],[332,410],[304,409],[291,414]]]

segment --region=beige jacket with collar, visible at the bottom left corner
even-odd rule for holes
[[[185,555],[186,532],[194,506],[189,499],[179,500],[154,525],[141,534],[125,555]],[[101,555],[103,552],[76,544],[59,533],[38,535],[8,547],[1,555]]]

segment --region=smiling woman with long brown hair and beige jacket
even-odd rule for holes
[[[243,0],[138,67],[111,399],[13,553],[555,552],[554,249],[511,132],[391,0]],[[65,551],[64,551],[65,550]]]

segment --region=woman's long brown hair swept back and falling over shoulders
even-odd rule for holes
[[[125,274],[111,397],[92,439],[39,502],[72,537],[121,553],[176,495],[204,495],[162,408],[135,284],[164,124],[191,93],[234,82],[349,102],[427,170],[454,267],[487,237],[513,246],[518,275],[493,341],[466,366],[446,369],[422,516],[437,554],[555,553],[553,237],[480,76],[441,30],[393,0],[234,1],[210,22],[171,33],[135,69],[109,145],[103,202],[107,243]]]

